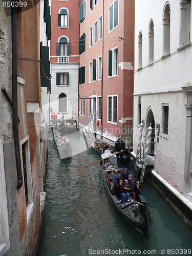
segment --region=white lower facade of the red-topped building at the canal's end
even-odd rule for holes
[[[60,93],[67,95],[67,113],[64,114],[64,119],[78,120],[78,63],[51,63],[51,95],[50,95],[50,108],[52,113],[57,115],[57,119],[60,119],[62,113],[59,112],[59,100]],[[69,72],[69,86],[57,86],[56,85],[56,73]]]

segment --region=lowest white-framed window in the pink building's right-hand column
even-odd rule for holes
[[[117,96],[108,96],[108,122],[117,123]]]

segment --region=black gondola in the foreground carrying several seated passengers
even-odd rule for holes
[[[139,185],[137,184],[134,194],[130,194],[131,199],[124,204],[120,204],[120,201],[114,195],[114,187],[108,183],[108,175],[110,175],[115,169],[113,161],[113,157],[111,157],[101,162],[101,166],[104,168],[105,184],[108,188],[113,205],[119,214],[121,214],[121,216],[123,216],[131,226],[148,238],[151,215],[147,202],[139,189]],[[120,174],[121,172],[122,169],[118,168],[118,173]]]

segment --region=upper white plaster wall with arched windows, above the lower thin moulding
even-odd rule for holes
[[[163,55],[163,8],[166,1],[135,1],[135,92],[179,88],[191,81],[192,47],[180,47],[180,1],[170,0],[170,56]],[[144,15],[143,15],[144,13]],[[154,22],[154,61],[149,65],[148,30]],[[190,28],[190,30],[192,27]],[[138,36],[142,32],[142,70],[138,69]],[[191,34],[191,31],[190,31]],[[150,79],[147,79],[150,78]]]

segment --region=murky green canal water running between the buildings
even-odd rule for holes
[[[152,216],[146,240],[113,208],[99,163],[66,176],[100,159],[92,148],[87,149],[79,133],[71,134],[69,139],[74,155],[65,160],[60,160],[49,141],[45,234],[40,256],[191,254],[192,233],[148,183],[142,187]],[[132,164],[126,167],[134,172]]]

